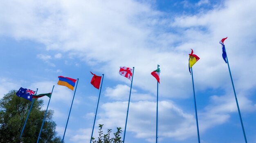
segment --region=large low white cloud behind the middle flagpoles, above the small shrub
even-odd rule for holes
[[[121,127],[124,129],[127,102],[109,102],[101,106],[104,110],[100,113],[96,124],[104,123],[105,128]],[[150,141],[155,137],[156,103],[148,101],[131,102],[128,114],[126,131],[135,133],[135,137]],[[207,123],[200,123],[202,132],[210,126],[223,123],[221,116],[207,117]],[[218,117],[220,119],[218,119]],[[196,136],[195,117],[193,114],[184,113],[170,101],[159,102],[159,138],[175,138],[184,140]],[[171,121],[171,124],[168,124]],[[209,125],[211,122],[211,125]],[[208,125],[208,126],[206,126]],[[191,132],[194,130],[195,132]]]

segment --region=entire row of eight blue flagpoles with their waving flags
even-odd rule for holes
[[[233,86],[234,95],[235,95],[235,99],[236,99],[236,105],[237,105],[237,108],[238,108],[240,122],[241,122],[241,126],[242,126],[242,129],[243,129],[243,135],[244,135],[244,138],[245,138],[245,143],[247,143],[247,139],[246,139],[246,135],[245,135],[245,130],[244,130],[244,126],[243,126],[243,121],[242,121],[242,117],[241,117],[241,113],[240,113],[240,109],[239,109],[239,105],[238,105],[238,100],[236,98],[236,91],[235,91],[233,79],[232,79],[232,76],[231,76],[231,71],[230,71],[229,62],[228,62],[228,58],[227,58],[227,53],[226,53],[226,49],[225,49],[225,45],[224,45],[225,39],[227,39],[227,38],[222,39],[219,43],[222,45],[222,57],[223,57],[225,63],[227,63],[227,65],[228,65],[229,74],[230,74],[230,78],[231,78],[231,83],[232,83],[232,86]],[[192,78],[193,98],[194,98],[194,104],[195,104],[195,119],[196,119],[196,126],[197,126],[198,143],[200,143],[200,135],[199,135],[199,128],[198,128],[198,115],[197,115],[197,108],[196,108],[196,101],[195,101],[195,88],[194,88],[194,79],[193,79],[192,66],[199,59],[200,58],[197,55],[193,54],[193,50],[191,49],[191,53],[189,54],[189,72],[191,73],[191,78]],[[130,68],[130,67],[120,67],[119,74],[121,76],[124,76],[124,77],[128,78],[131,81],[130,94],[129,94],[129,100],[128,100],[128,108],[127,108],[127,114],[126,114],[126,122],[125,122],[125,128],[124,128],[123,143],[125,141],[125,135],[126,135],[126,126],[127,126],[127,119],[128,119],[129,105],[130,105],[130,96],[131,96],[131,90],[132,90],[133,73],[134,73],[134,67],[132,67],[132,68]],[[101,95],[101,87],[102,87],[103,78],[104,78],[104,74],[102,74],[102,78],[101,78],[101,76],[97,76],[97,75],[93,74],[92,72],[91,72],[91,74],[93,75],[92,80],[91,80],[91,84],[95,88],[99,89],[99,97],[98,97],[97,108],[96,108],[96,112],[95,112],[95,116],[94,116],[94,123],[93,123],[93,127],[92,127],[92,134],[91,134],[91,138],[90,138],[90,143],[92,141],[92,135],[93,135],[93,131],[94,131],[94,126],[95,126],[95,121],[96,121],[97,111],[98,111],[98,106],[99,106],[99,99],[100,99],[100,95]],[[158,128],[157,127],[158,127],[158,84],[160,83],[160,81],[159,81],[159,74],[160,74],[160,69],[159,69],[159,65],[157,65],[157,69],[155,71],[151,72],[151,75],[154,76],[156,78],[156,80],[157,80],[156,140],[155,140],[156,143],[157,143],[157,140],[158,140],[158,134],[157,134]],[[65,125],[65,131],[63,133],[63,138],[62,138],[62,141],[61,141],[61,143],[63,143],[64,137],[65,137],[65,132],[66,132],[66,129],[67,129],[68,120],[69,120],[69,117],[70,117],[70,112],[71,112],[71,109],[72,109],[72,104],[73,104],[73,101],[74,101],[74,96],[75,96],[75,93],[76,93],[76,87],[77,87],[79,78],[77,78],[77,80],[73,79],[73,78],[63,77],[63,76],[58,76],[58,78],[59,78],[58,83],[57,83],[58,85],[66,86],[67,88],[69,88],[72,91],[74,91],[74,95],[73,95],[73,98],[72,98],[72,103],[71,103],[70,110],[69,110],[68,117],[67,117],[67,122],[66,122],[66,125]],[[75,87],[75,90],[74,90],[74,87]],[[54,86],[52,87],[52,92],[53,92],[53,89],[54,89]],[[29,109],[29,112],[28,112],[28,115],[27,115],[27,118],[25,120],[24,126],[22,128],[21,133],[20,133],[20,138],[22,137],[22,132],[24,131],[27,119],[29,117],[29,113],[30,113],[32,105],[34,103],[34,98],[40,98],[40,97],[43,97],[43,96],[46,95],[46,96],[49,97],[49,102],[51,100],[52,92],[51,93],[45,93],[45,94],[36,95],[37,91],[38,91],[38,89],[36,89],[36,91],[32,91],[30,89],[23,89],[21,87],[19,89],[19,91],[16,93],[16,95],[18,97],[22,97],[22,98],[25,98],[25,99],[27,99],[29,101],[32,101],[30,109]],[[49,102],[48,102],[48,105],[47,105],[47,108],[46,108],[46,111],[45,111],[45,116],[46,116],[46,113],[47,113]],[[45,116],[44,116],[43,123],[42,123],[41,129],[40,129],[40,133],[39,133],[39,136],[38,136],[37,143],[38,143],[38,141],[40,139],[40,134],[41,134],[41,131],[42,131],[42,128],[43,128]]]

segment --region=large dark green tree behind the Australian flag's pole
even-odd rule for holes
[[[0,100],[0,143],[36,143],[45,115],[45,110],[42,110],[43,100],[34,100],[20,139],[20,132],[31,102],[19,98],[16,92],[15,90],[9,91]],[[61,143],[61,137],[58,137],[55,131],[56,123],[52,120],[53,114],[54,111],[47,111],[39,143]]]

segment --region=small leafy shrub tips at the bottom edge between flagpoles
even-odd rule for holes
[[[92,137],[92,143],[123,143],[121,141],[121,128],[117,128],[117,132],[114,133],[114,137],[110,138],[111,129],[108,129],[107,134],[103,134],[102,130],[103,124],[99,124],[99,137],[98,141],[95,140],[94,137]]]

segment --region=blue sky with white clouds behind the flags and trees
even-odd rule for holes
[[[227,64],[236,87],[247,141],[256,142],[255,0],[1,0],[0,98],[11,89],[51,92],[62,137],[72,91],[58,76],[79,78],[66,143],[89,142],[98,90],[105,74],[96,124],[124,128],[130,80],[119,66],[135,67],[126,143],[154,143],[156,80],[160,65],[159,143],[197,142],[188,54],[193,66],[201,143],[243,143]],[[48,98],[41,98],[46,108]],[[97,137],[97,126],[94,130]]]

